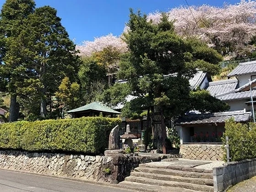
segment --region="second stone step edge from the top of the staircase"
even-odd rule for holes
[[[169,176],[183,176],[183,177],[191,177],[191,178],[213,179],[212,173],[169,170],[169,169],[163,169],[163,168],[136,167],[134,171],[142,172],[142,173],[169,175]]]

